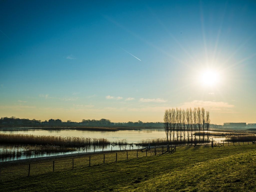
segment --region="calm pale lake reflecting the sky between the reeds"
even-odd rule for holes
[[[104,146],[104,147],[81,147],[74,148],[72,152],[58,152],[58,153],[26,153],[28,148],[25,145],[1,145],[0,153],[4,150],[9,152],[21,153],[21,155],[14,155],[8,158],[0,158],[0,161],[12,161],[17,159],[34,158],[34,157],[46,157],[52,155],[63,155],[78,152],[97,152],[97,151],[109,151],[109,150],[129,150],[130,145],[138,144],[141,140],[153,139],[153,138],[166,138],[166,134],[163,128],[142,128],[136,130],[118,130],[118,131],[84,131],[84,130],[42,130],[42,129],[31,129],[31,127],[3,127],[0,133],[20,133],[20,134],[33,134],[33,135],[55,135],[55,136],[76,136],[76,137],[92,137],[92,138],[105,138],[111,143],[119,140],[125,140],[127,145],[123,146]],[[175,132],[176,134],[176,132]],[[185,135],[187,137],[187,135]],[[221,141],[224,137],[214,137],[215,141]],[[131,145],[131,149],[137,149],[140,146]]]

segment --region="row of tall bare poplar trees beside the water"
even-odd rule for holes
[[[193,141],[193,135],[199,137],[199,141],[209,141],[210,113],[204,108],[198,107],[194,110],[186,109],[167,109],[164,113],[164,129],[167,142],[185,141],[187,132],[187,141]],[[205,133],[206,132],[206,133]]]

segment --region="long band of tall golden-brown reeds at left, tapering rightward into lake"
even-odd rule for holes
[[[32,135],[32,134],[5,134],[0,133],[0,143],[2,144],[31,144],[31,145],[57,145],[65,147],[80,146],[103,146],[110,142],[105,138],[74,137],[74,136],[52,136],[52,135]]]

